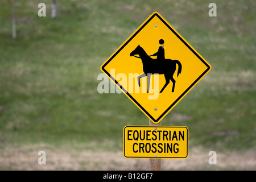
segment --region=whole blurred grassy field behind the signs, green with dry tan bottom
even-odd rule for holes
[[[49,0],[19,2],[16,39],[11,3],[0,2],[0,169],[147,169],[122,155],[123,127],[147,117],[124,94],[99,94],[97,76],[154,11],[212,65],[162,120],[189,129],[188,159],[162,168],[256,169],[255,1],[216,0],[216,17],[210,1],[57,1],[56,19]]]

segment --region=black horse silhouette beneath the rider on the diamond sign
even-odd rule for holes
[[[135,56],[139,55],[139,56]],[[177,71],[177,76],[181,73],[181,63],[178,60],[171,60],[171,59],[161,59],[156,60],[152,59],[150,56],[147,55],[147,53],[144,51],[144,49],[141,46],[138,46],[134,49],[133,52],[130,53],[130,56],[134,56],[137,58],[140,58],[142,60],[143,64],[143,72],[142,75],[138,76],[138,83],[139,86],[141,86],[140,78],[147,76],[147,93],[149,91],[150,86],[150,76],[153,74],[164,74],[164,78],[166,78],[166,84],[164,84],[162,90],[160,90],[160,93],[163,92],[163,90],[166,88],[166,86],[170,83],[170,80],[172,81],[172,92],[174,92],[175,88],[175,80],[173,78],[174,72],[176,70],[176,64],[178,64],[179,69]]]

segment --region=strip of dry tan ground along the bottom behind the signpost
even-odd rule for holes
[[[46,165],[38,164],[38,152],[46,152]],[[189,148],[187,159],[162,159],[162,170],[255,170],[256,152],[229,151],[217,154],[217,164],[210,165],[210,150]],[[86,147],[56,148],[47,144],[8,146],[0,151],[2,170],[148,170],[148,159],[126,159],[122,151],[86,150]]]

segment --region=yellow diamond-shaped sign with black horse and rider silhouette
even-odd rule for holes
[[[159,123],[210,69],[157,12],[101,65],[101,71],[153,123]]]

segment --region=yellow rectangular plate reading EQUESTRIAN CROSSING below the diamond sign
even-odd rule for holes
[[[125,158],[187,158],[186,126],[125,126],[123,128]]]

